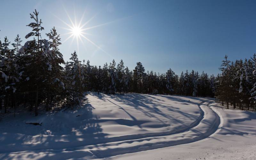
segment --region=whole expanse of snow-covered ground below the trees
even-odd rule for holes
[[[87,98],[78,110],[5,115],[0,159],[256,159],[255,112],[227,110],[210,98]]]

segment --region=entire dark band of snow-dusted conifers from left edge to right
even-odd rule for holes
[[[23,106],[37,116],[39,105],[45,106],[46,111],[53,107],[74,106],[81,103],[88,91],[216,96],[222,104],[254,104],[256,84],[253,81],[256,78],[252,71],[255,70],[255,55],[253,60],[245,62],[229,64],[230,61],[223,61],[222,74],[217,77],[194,70],[190,73],[186,70],[178,76],[171,68],[165,74],[145,72],[141,62],[130,70],[123,60],[117,65],[113,60],[97,67],[89,60],[78,60],[76,51],[65,62],[59,50],[61,39],[56,29],[53,27],[46,33],[48,39],[42,39],[44,27],[38,12],[35,10],[30,18],[33,22],[27,26],[31,32],[25,36],[28,41],[22,44],[19,35],[12,44],[7,37],[0,41],[0,110],[4,109],[4,113],[8,108],[15,110]]]

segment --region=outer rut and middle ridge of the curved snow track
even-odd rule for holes
[[[213,101],[212,101],[213,102]],[[131,139],[131,140],[123,140],[123,141],[114,141],[107,142],[96,145],[88,145],[76,148],[68,147],[67,149],[45,149],[45,150],[36,150],[36,151],[23,151],[10,153],[14,154],[39,154],[44,155],[43,159],[49,158],[48,155],[51,154],[51,158],[58,159],[62,154],[66,155],[65,158],[106,158],[110,156],[117,156],[126,153],[134,153],[139,151],[171,147],[181,144],[187,144],[196,142],[199,140],[204,140],[214,134],[219,125],[220,125],[220,116],[213,111],[209,105],[212,103],[204,104],[207,102],[202,102],[198,106],[200,110],[202,110],[203,118],[202,120],[195,126],[190,128],[188,131],[180,132],[171,135],[165,136],[153,136],[146,137],[141,139]],[[63,147],[63,146],[62,146]],[[79,153],[79,155],[74,156],[74,153]],[[73,155],[73,156],[72,156]],[[88,157],[88,155],[90,155]],[[41,157],[42,158],[42,157]],[[40,159],[41,159],[40,158]]]

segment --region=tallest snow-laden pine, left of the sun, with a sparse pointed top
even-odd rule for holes
[[[45,88],[46,84],[44,82],[46,75],[48,74],[49,68],[52,67],[50,64],[49,58],[50,49],[49,43],[45,39],[41,39],[41,31],[44,30],[42,27],[42,20],[38,18],[39,12],[30,14],[30,18],[33,22],[29,23],[27,26],[32,28],[32,32],[28,33],[25,38],[28,39],[31,36],[34,36],[32,41],[27,41],[23,47],[20,49],[20,54],[27,52],[29,55],[28,64],[24,65],[24,68],[21,67],[22,71],[26,72],[25,75],[29,75],[25,80],[30,81],[30,92],[35,92],[35,115],[38,115],[38,95],[39,88]],[[22,72],[21,71],[21,72]],[[30,72],[30,73],[29,73]],[[23,76],[24,77],[24,76]],[[23,79],[24,80],[24,79]],[[41,95],[41,94],[40,94]],[[41,97],[42,98],[42,97]]]

